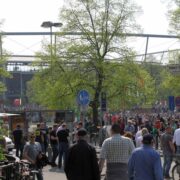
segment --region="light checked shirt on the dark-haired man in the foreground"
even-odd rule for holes
[[[107,163],[127,163],[134,148],[131,139],[115,134],[103,142],[100,158]]]

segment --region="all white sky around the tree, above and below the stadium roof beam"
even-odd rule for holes
[[[0,0],[0,29],[5,32],[45,32],[49,29],[41,27],[43,21],[60,22],[59,8],[65,0]],[[168,34],[167,7],[161,0],[136,0],[144,13],[137,19],[146,34]],[[53,28],[53,31],[56,31]],[[33,41],[32,41],[33,39]],[[12,37],[4,39],[3,48],[13,54],[32,54],[40,48],[41,39],[32,37]],[[144,51],[146,39],[139,39],[140,51]],[[151,40],[150,40],[151,41]],[[154,40],[152,40],[153,42]],[[156,40],[157,41],[157,40]],[[177,39],[159,39],[156,50],[176,48]],[[154,42],[153,42],[154,43]],[[158,44],[160,43],[160,44]],[[164,45],[167,47],[163,47]],[[168,45],[170,47],[168,47]],[[174,47],[175,46],[175,47]],[[158,47],[158,48],[157,48]],[[151,42],[149,43],[151,50]],[[154,50],[152,50],[154,51]]]

